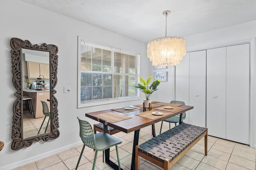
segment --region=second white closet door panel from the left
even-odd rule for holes
[[[189,54],[189,123],[205,127],[206,123],[206,50]]]

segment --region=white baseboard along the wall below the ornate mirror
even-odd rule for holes
[[[63,146],[61,148],[58,148],[58,149],[55,149],[55,150],[51,150],[50,152],[46,152],[46,153],[43,153],[43,154],[40,154],[40,155],[37,155],[37,156],[33,156],[31,158],[27,158],[27,159],[21,160],[19,162],[14,162],[12,164],[9,164],[9,165],[6,165],[6,166],[2,166],[2,167],[0,167],[0,170],[10,170],[10,169],[13,169],[13,168],[17,168],[19,166],[22,166],[22,165],[34,162],[36,160],[40,160],[42,158],[46,158],[47,156],[51,156],[51,155],[57,154],[57,153],[62,152],[64,150],[68,150],[70,148],[74,148],[74,147],[79,146],[81,144],[83,144],[82,141],[76,142],[76,143],[73,143],[73,144],[70,144],[70,145],[67,145],[67,146]]]

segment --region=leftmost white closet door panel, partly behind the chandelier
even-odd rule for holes
[[[189,105],[189,53],[175,66],[175,100]],[[189,123],[189,111],[184,122]]]

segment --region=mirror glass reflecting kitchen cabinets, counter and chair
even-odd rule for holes
[[[49,52],[22,49],[23,138],[50,132]]]

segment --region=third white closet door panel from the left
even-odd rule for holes
[[[208,49],[206,67],[206,127],[226,138],[226,47]]]

